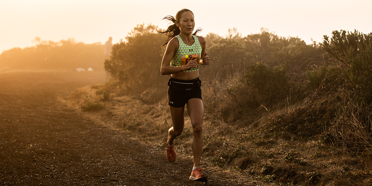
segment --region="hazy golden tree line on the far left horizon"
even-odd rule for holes
[[[33,43],[33,47],[3,51],[0,69],[103,70],[104,47],[99,42],[84,44],[73,38],[54,42],[36,37]]]

